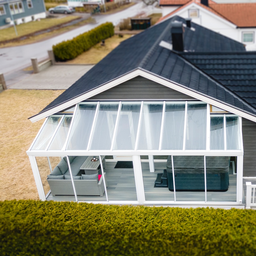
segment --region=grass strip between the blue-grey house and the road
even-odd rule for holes
[[[56,26],[70,20],[78,18],[77,16],[67,16],[63,18],[46,18],[40,21],[28,22],[17,25],[18,36],[15,34],[14,27],[2,29],[0,32],[0,41],[14,39],[16,37],[25,36],[36,31]]]

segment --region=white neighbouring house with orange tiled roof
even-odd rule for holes
[[[159,4],[173,2],[178,1],[160,0]],[[242,42],[247,50],[256,50],[256,3],[219,4],[212,0],[190,0],[167,14],[168,8],[163,8],[164,15],[160,20],[175,15],[191,18],[194,23]]]

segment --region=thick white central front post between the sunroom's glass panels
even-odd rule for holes
[[[141,158],[139,155],[132,156],[134,179],[137,193],[137,200],[139,204],[145,202],[144,184],[141,169]]]

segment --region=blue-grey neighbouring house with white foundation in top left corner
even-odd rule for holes
[[[42,0],[0,0],[1,27],[45,17],[45,3]]]

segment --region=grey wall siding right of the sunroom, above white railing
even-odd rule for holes
[[[256,176],[256,123],[242,119],[243,132],[243,176]]]

